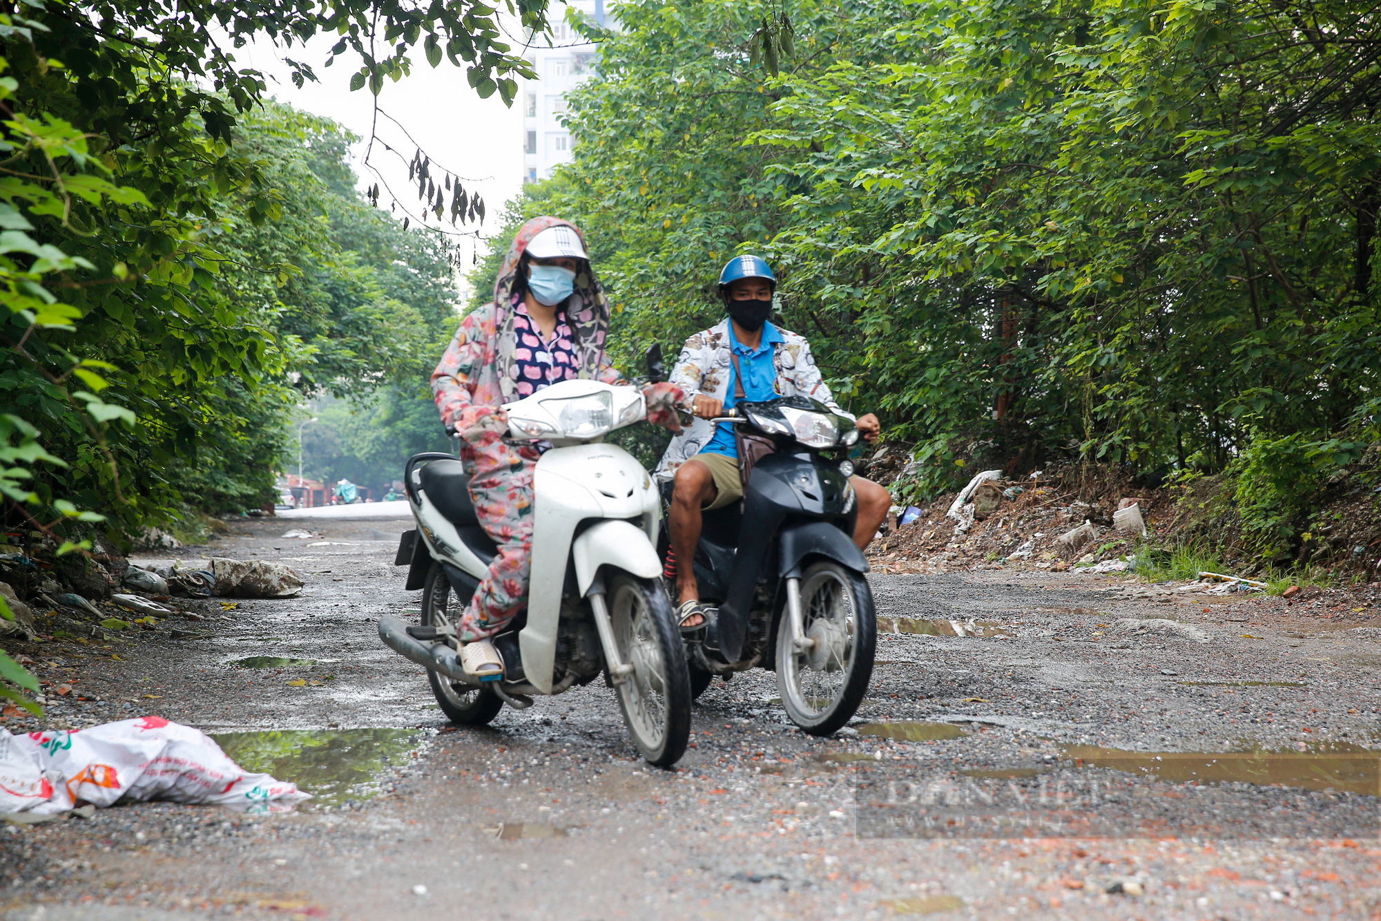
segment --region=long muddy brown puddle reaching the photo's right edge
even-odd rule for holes
[[[1174,783],[1248,783],[1381,795],[1381,752],[1331,743],[1322,751],[1124,751],[1066,745],[1084,768],[1110,768]]]

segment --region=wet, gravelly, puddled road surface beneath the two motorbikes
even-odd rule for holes
[[[657,770],[598,682],[449,726],[374,632],[418,606],[392,566],[406,527],[236,524],[160,559],[283,561],[302,597],[44,644],[40,676],[87,697],[50,693],[48,726],[156,714],[318,798],[0,827],[0,918],[1381,913],[1378,628],[1121,575],[874,575],[898,632],[851,729],[800,733],[775,676],[746,672]]]

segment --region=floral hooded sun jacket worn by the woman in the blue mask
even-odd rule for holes
[[[464,433],[481,425],[485,416],[493,415],[503,404],[518,398],[518,360],[514,357],[518,347],[514,332],[518,263],[533,236],[559,225],[576,231],[584,245],[580,228],[559,217],[534,217],[523,224],[499,270],[494,300],[467,314],[446,347],[446,354],[431,378],[436,408],[446,426]],[[580,378],[621,383],[623,376],[605,357],[609,301],[588,263],[576,275],[576,290],[566,300],[565,310],[566,324],[574,333]],[[474,459],[468,441],[461,445],[461,454]]]

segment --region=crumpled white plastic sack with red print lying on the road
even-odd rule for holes
[[[247,773],[199,729],[160,716],[76,732],[11,736],[0,729],[0,813],[61,813],[79,802],[164,799],[264,809],[309,795]]]

